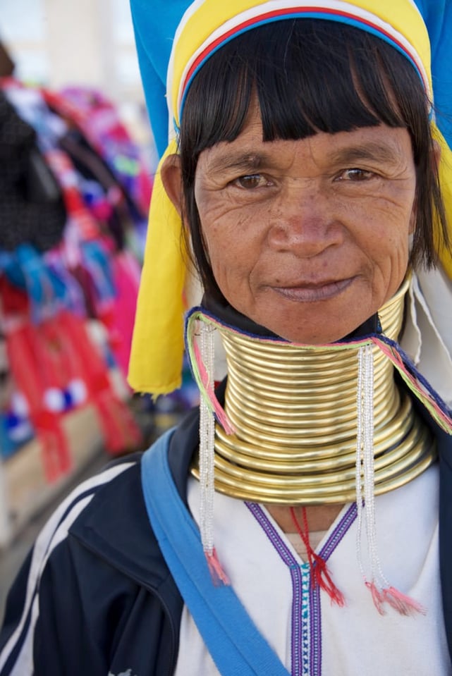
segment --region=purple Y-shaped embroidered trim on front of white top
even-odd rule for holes
[[[283,563],[286,564],[292,579],[292,676],[322,676],[322,608],[319,586],[309,582],[309,564],[300,564],[286,543],[271,524],[264,510],[256,503],[245,503],[255,517],[269,541],[274,546]],[[353,503],[338,522],[319,554],[326,561],[341,542],[356,518],[356,505]],[[308,601],[303,589],[309,584]],[[309,632],[308,628],[309,627]]]

